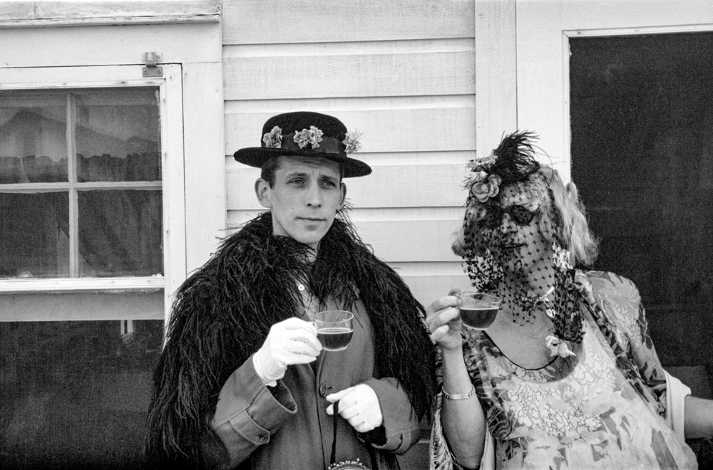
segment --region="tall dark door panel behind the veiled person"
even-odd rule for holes
[[[637,283],[667,365],[709,365],[713,33],[575,38],[572,177],[595,268]]]

